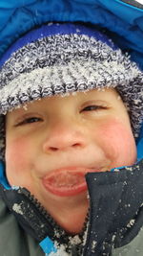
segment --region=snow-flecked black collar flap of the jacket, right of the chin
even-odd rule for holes
[[[142,171],[143,164],[140,162],[133,168],[113,174],[107,172],[87,176],[91,195],[91,225],[85,255],[111,255],[113,247],[129,244],[137,235],[143,224]]]

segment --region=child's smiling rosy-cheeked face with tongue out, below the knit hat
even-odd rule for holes
[[[129,116],[113,89],[51,97],[7,115],[6,172],[70,232],[88,209],[87,172],[132,165],[136,147]]]

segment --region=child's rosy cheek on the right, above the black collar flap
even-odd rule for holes
[[[112,161],[113,167],[132,165],[136,160],[136,146],[130,126],[116,119],[104,124],[99,131],[102,149]]]

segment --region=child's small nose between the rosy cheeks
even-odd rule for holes
[[[86,146],[85,128],[75,122],[55,122],[46,134],[44,152],[67,151]]]

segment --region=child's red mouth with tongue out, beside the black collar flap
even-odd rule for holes
[[[53,173],[43,179],[45,188],[60,197],[78,195],[87,190],[85,173],[60,172]]]

